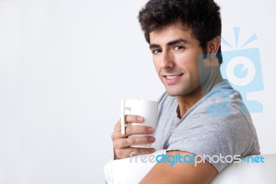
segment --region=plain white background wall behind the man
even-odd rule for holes
[[[0,0],[0,183],[104,183],[121,98],[164,88],[137,14],[146,1]],[[217,1],[223,37],[259,48],[264,105],[253,113],[262,154],[276,153],[275,6]],[[223,50],[229,50],[223,46]]]

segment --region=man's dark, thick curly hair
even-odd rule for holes
[[[206,53],[207,42],[221,36],[219,10],[213,0],[150,0],[139,11],[138,19],[148,43],[152,31],[180,23],[192,29],[193,36]],[[217,58],[221,64],[221,46]]]

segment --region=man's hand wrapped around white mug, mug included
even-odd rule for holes
[[[153,133],[157,113],[158,102],[121,101],[121,120],[115,125],[115,132],[112,134],[115,158],[127,158],[130,154],[152,154],[155,151],[150,145],[155,142]]]

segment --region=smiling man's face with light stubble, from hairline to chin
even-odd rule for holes
[[[168,95],[185,96],[199,92],[197,56],[203,54],[199,41],[177,24],[150,33],[150,50]]]

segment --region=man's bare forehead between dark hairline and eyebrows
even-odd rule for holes
[[[179,24],[166,26],[150,33],[150,44],[167,44],[175,39],[186,39],[188,42],[197,42],[192,36],[191,28],[185,28]]]

